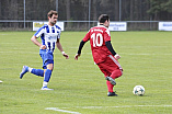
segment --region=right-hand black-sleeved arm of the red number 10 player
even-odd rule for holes
[[[111,41],[105,42],[106,47],[108,48],[108,50],[112,53],[113,56],[115,56],[116,59],[119,59],[121,56],[118,54],[116,54],[116,52],[114,50]]]

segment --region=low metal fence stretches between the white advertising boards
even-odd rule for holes
[[[158,21],[126,21],[127,31],[158,31]],[[25,26],[24,26],[25,25]],[[98,21],[65,21],[65,31],[88,31]],[[0,21],[0,31],[32,31],[33,21]]]

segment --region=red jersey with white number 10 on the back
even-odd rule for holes
[[[110,30],[103,25],[90,29],[82,41],[90,41],[92,56],[95,64],[104,61],[108,55],[112,55],[105,45],[105,42],[111,41]]]

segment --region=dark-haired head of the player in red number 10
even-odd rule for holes
[[[110,16],[108,16],[108,14],[101,14],[99,16],[99,22],[100,22],[100,24],[103,24],[104,26],[108,27],[110,26]]]

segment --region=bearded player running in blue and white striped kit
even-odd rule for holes
[[[57,48],[61,52],[66,59],[69,58],[69,56],[64,52],[62,46],[59,42],[61,29],[58,25],[56,25],[58,13],[54,10],[50,10],[47,16],[48,24],[43,25],[31,38],[31,41],[39,47],[39,56],[43,59],[44,70],[23,66],[22,72],[20,73],[21,79],[26,72],[44,77],[44,82],[41,90],[53,90],[47,88],[47,84],[49,82],[54,69],[55,46],[57,46]],[[42,38],[42,43],[37,41],[38,37]]]

